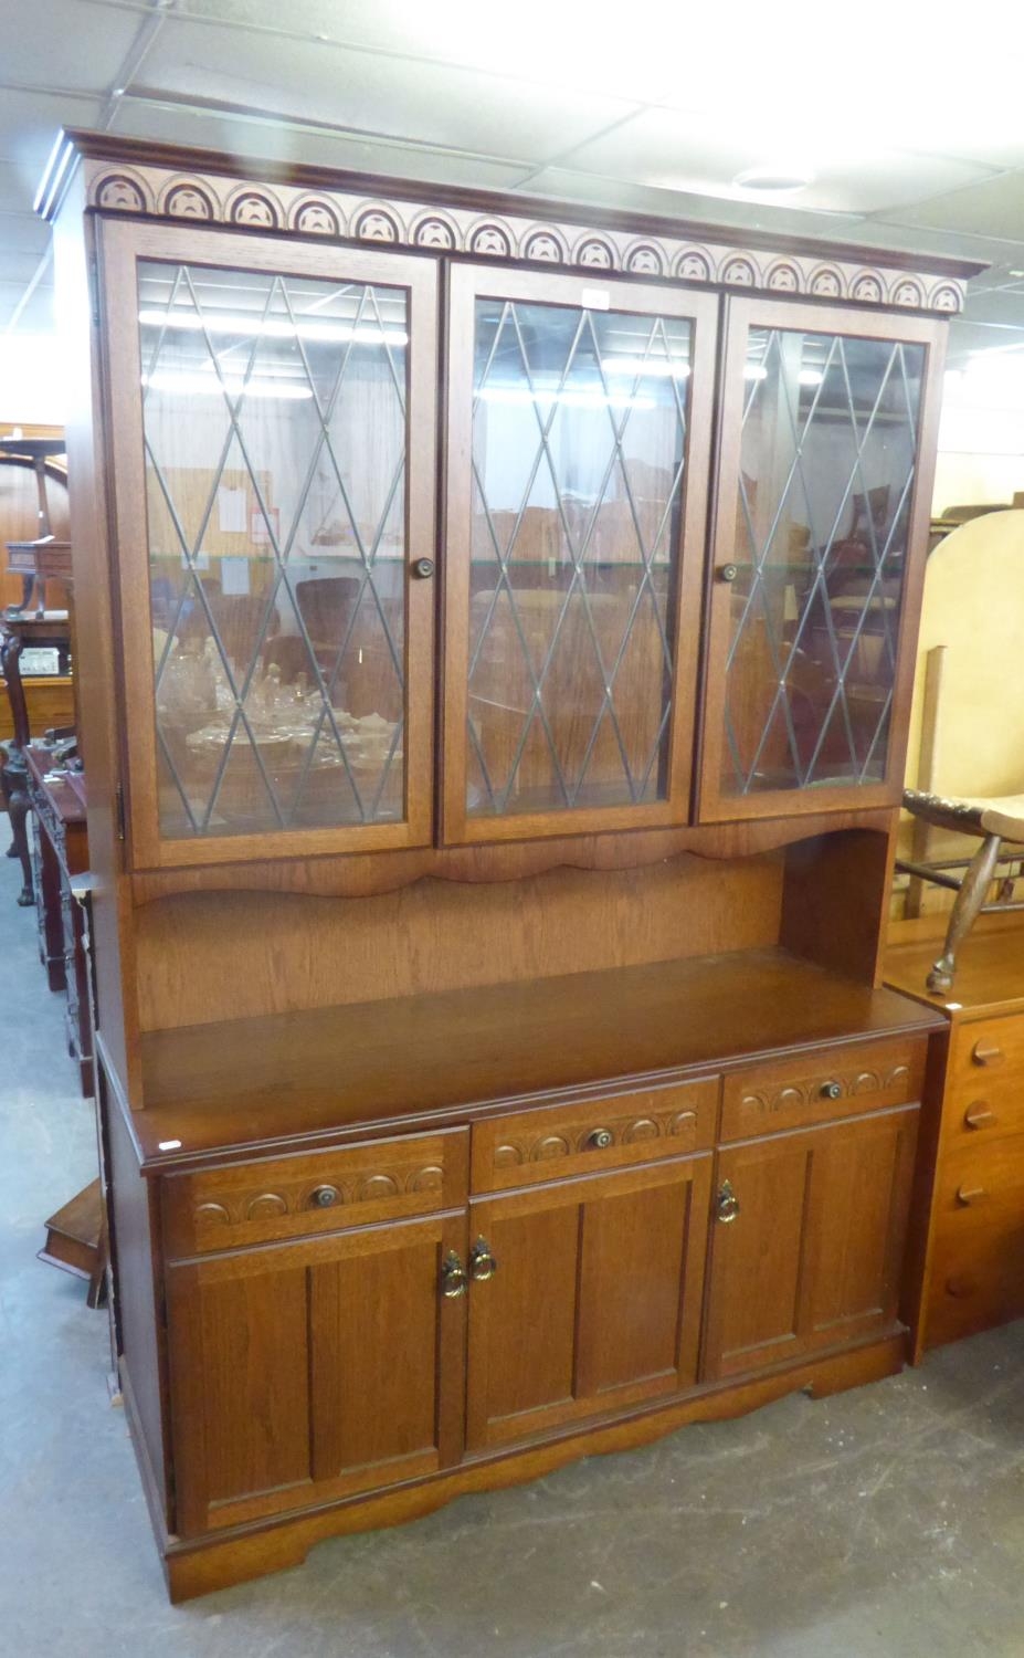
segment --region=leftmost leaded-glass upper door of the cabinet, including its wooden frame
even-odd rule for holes
[[[427,844],[434,264],[101,252],[134,865]]]

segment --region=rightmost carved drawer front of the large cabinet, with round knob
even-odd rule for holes
[[[828,1048],[731,1071],[722,1088],[722,1141],[860,1116],[921,1098],[926,1040]]]

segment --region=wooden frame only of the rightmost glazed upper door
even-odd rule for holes
[[[766,789],[757,794],[726,794],[721,786],[726,658],[732,642],[732,589],[719,579],[719,570],[722,565],[736,562],[734,527],[744,410],[742,370],[747,355],[747,337],[754,327],[825,335],[838,333],[858,340],[903,342],[906,345],[925,347],[915,482],[908,521],[903,599],[896,630],[896,675],[893,681],[885,779],[882,783],[828,784],[820,789]],[[708,627],[701,691],[696,822],[717,824],[754,817],[794,817],[809,811],[838,812],[848,811],[853,806],[870,809],[898,804],[906,764],[906,716],[913,691],[915,645],[925,584],[925,562],[928,557],[928,524],[935,486],[935,449],[938,443],[946,333],[948,323],[939,317],[903,317],[893,312],[873,313],[868,310],[853,310],[845,305],[790,303],[789,300],[731,297],[726,302],[717,479],[708,557]]]

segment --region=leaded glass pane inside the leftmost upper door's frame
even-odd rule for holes
[[[167,837],[404,814],[406,293],[139,264]]]

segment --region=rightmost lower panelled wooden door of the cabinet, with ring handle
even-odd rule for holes
[[[895,1325],[916,1127],[906,1106],[721,1152],[706,1381]]]

